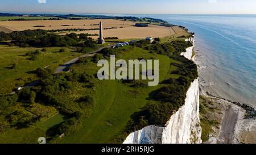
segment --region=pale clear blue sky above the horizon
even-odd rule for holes
[[[255,0],[0,0],[0,12],[256,14]]]

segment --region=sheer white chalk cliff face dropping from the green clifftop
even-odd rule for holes
[[[194,43],[193,37],[187,39]],[[194,44],[193,44],[194,45]],[[181,53],[191,60],[193,47]],[[195,79],[187,91],[185,103],[164,127],[150,125],[130,133],[123,144],[187,144],[201,143],[199,118],[199,82]]]

